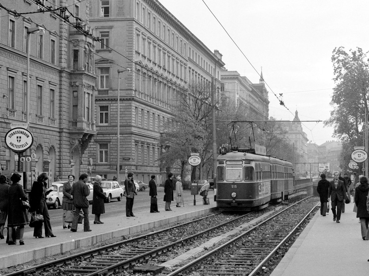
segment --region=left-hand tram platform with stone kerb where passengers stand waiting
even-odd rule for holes
[[[104,224],[93,224],[94,215],[90,211],[89,221],[92,230],[90,232],[84,232],[83,224],[78,224],[77,232],[71,232],[67,228],[63,229],[62,226],[53,227],[55,238],[37,239],[33,237],[33,231],[25,232],[23,236],[25,244],[21,246],[19,245],[19,240],[17,245],[9,246],[5,243],[5,239],[1,239],[0,269],[66,253],[70,250],[91,246],[108,239],[128,237],[141,231],[211,213],[216,208],[214,200],[210,200],[209,205],[203,205],[201,201],[197,202],[195,206],[193,202],[189,201],[181,208],[176,208],[176,202],[172,201],[172,211],[160,209],[160,213],[150,213],[150,203],[148,203],[148,208],[145,211],[134,212],[135,217],[126,217],[125,199],[123,199],[124,207],[122,211],[113,217],[102,217]]]

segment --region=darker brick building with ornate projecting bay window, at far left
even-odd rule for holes
[[[88,29],[89,1],[55,0],[54,7],[68,6]],[[88,170],[87,147],[96,134],[93,91],[96,75],[93,67],[94,41],[55,13],[33,13],[42,7],[33,1],[1,1],[0,10],[0,135],[4,137],[11,123],[26,123],[34,136],[31,162],[21,162],[20,171],[33,177],[46,172],[50,180],[56,175],[66,179]],[[14,11],[30,11],[15,15]],[[60,13],[60,10],[56,11]],[[77,14],[77,15],[76,15]],[[72,19],[73,18],[73,19]],[[40,27],[43,35],[28,34]],[[27,62],[30,44],[30,62]],[[30,90],[27,86],[30,66]],[[29,95],[27,96],[27,94]],[[27,111],[27,99],[30,110]],[[25,154],[25,153],[23,153]],[[0,164],[3,173],[18,170],[15,153],[0,141]],[[30,179],[28,179],[30,185]],[[27,189],[30,188],[27,186]]]

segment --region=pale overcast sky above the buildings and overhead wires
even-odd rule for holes
[[[334,87],[332,51],[360,47],[369,51],[369,1],[356,0],[159,0],[211,51],[223,54],[228,70],[251,82],[263,77],[269,87],[269,116],[301,121],[327,120]],[[285,107],[279,97],[283,93]],[[354,108],[354,107],[353,107]],[[318,145],[332,140],[331,127],[303,123],[308,139]]]

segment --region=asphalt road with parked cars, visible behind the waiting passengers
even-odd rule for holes
[[[209,198],[211,199],[213,191],[209,191]],[[184,192],[184,203],[193,205],[193,197],[190,194],[189,190],[185,190]],[[174,191],[175,194],[175,191]],[[163,201],[164,197],[164,190],[162,187],[158,187],[158,210],[164,211],[165,202]],[[172,206],[176,203],[172,202]],[[196,204],[201,204],[201,197],[196,196]],[[134,205],[133,205],[133,213],[136,211],[150,211],[150,197],[149,197],[149,190],[145,190],[144,192],[139,191],[138,195],[135,196]],[[62,209],[49,209],[50,221],[51,221],[51,228],[54,227],[63,227],[62,217],[63,217],[63,210]],[[125,216],[125,198],[121,201],[117,201],[117,199],[112,199],[110,203],[105,203],[105,214],[102,214],[100,219],[104,221],[104,218],[107,217],[115,217],[117,215]],[[30,215],[28,216],[30,218]],[[92,214],[92,204],[89,207],[89,218],[92,220],[94,215]],[[25,232],[33,231],[33,228],[26,226]]]

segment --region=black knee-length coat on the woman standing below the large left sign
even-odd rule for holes
[[[22,207],[21,200],[28,200],[23,191],[23,186],[13,183],[8,189],[8,227],[15,227],[28,224],[28,215]]]

